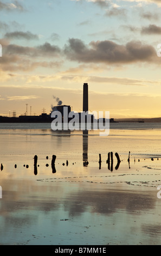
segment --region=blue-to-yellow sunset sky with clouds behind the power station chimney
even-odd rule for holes
[[[161,117],[160,11],[161,0],[0,0],[0,115],[49,114],[55,97],[80,112],[88,83],[91,112]]]

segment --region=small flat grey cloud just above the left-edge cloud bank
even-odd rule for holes
[[[26,39],[26,40],[37,40],[38,35],[33,34],[31,32],[22,32],[22,31],[15,31],[15,32],[8,32],[4,35],[5,38],[9,39]]]

